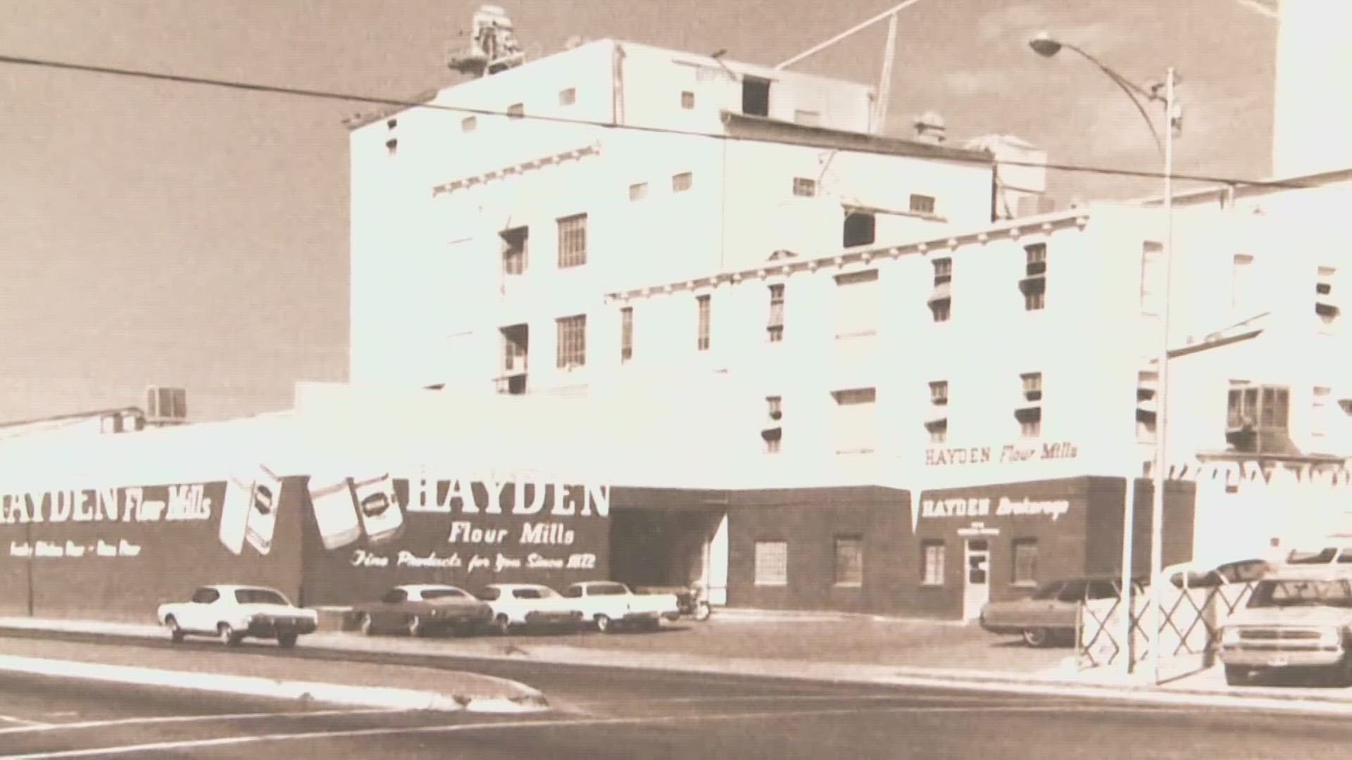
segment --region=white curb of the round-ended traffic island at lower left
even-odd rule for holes
[[[433,710],[443,713],[538,713],[549,710],[549,702],[539,691],[512,683],[526,694],[519,696],[465,696],[411,688],[349,686],[306,680],[274,680],[260,676],[233,676],[191,671],[166,671],[105,665],[72,660],[46,660],[0,655],[0,671],[42,676],[74,678],[164,688],[187,688],[218,694],[238,694],[299,702],[326,702],[389,710]],[[495,679],[506,682],[506,679]]]

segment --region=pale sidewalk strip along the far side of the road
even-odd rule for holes
[[[719,611],[722,613],[722,611]],[[750,623],[727,623],[725,630],[740,638],[738,632]],[[821,623],[826,625],[826,623]],[[840,625],[840,623],[837,623]],[[888,626],[888,623],[880,623]],[[919,625],[919,623],[914,623]],[[781,634],[783,623],[775,626]],[[948,636],[968,627],[942,626]],[[31,618],[0,618],[4,629],[64,630],[131,638],[166,637],[160,626],[141,623],[111,623],[95,621],[54,621]],[[718,636],[713,623],[692,623],[692,630]],[[1272,709],[1352,714],[1352,688],[1274,688],[1230,687],[1225,684],[1220,668],[1210,668],[1186,678],[1175,678],[1161,686],[1144,683],[1140,676],[1125,678],[1115,672],[1079,672],[1073,664],[1073,650],[1025,650],[1051,663],[1034,669],[945,667],[940,659],[927,664],[888,664],[840,659],[837,652],[818,652],[815,657],[783,657],[783,652],[761,656],[727,656],[658,649],[657,644],[671,640],[668,634],[584,634],[584,636],[480,636],[472,638],[407,638],[397,636],[364,637],[354,633],[315,633],[301,638],[301,649],[331,652],[368,652],[422,655],[427,657],[483,657],[491,660],[538,661],[550,664],[592,665],[696,673],[749,675],[763,678],[827,680],[836,683],[869,683],[891,686],[919,686],[1014,694],[1049,694],[1099,699],[1128,699],[1168,705],[1207,707]],[[698,634],[695,634],[698,636]],[[0,648],[12,650],[16,641],[5,640]],[[583,645],[579,645],[583,644]],[[269,642],[261,644],[268,646]],[[690,648],[690,646],[687,646]],[[999,644],[990,646],[1002,649]],[[1017,648],[1005,646],[1006,652]],[[193,653],[200,655],[200,653]],[[914,660],[914,657],[913,657]],[[234,663],[235,660],[231,660]],[[316,664],[316,667],[323,667]],[[377,668],[387,668],[379,665]],[[330,668],[331,669],[331,668]],[[343,668],[346,671],[346,667]],[[1167,673],[1176,675],[1176,673]]]

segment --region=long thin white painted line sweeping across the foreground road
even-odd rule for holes
[[[178,752],[184,749],[204,749],[214,746],[231,746],[239,744],[260,744],[265,741],[296,741],[296,740],[337,740],[362,738],[375,736],[411,736],[433,733],[457,733],[480,730],[507,730],[507,729],[550,729],[550,728],[581,728],[581,726],[623,726],[642,723],[669,723],[669,722],[704,722],[704,721],[742,721],[757,718],[813,718],[830,715],[865,715],[865,714],[895,714],[895,713],[1063,713],[1064,706],[1025,706],[1025,707],[886,707],[861,710],[777,710],[769,713],[733,713],[715,715],[657,715],[642,718],[579,718],[564,721],[498,721],[491,723],[453,723],[439,726],[411,726],[411,728],[380,728],[380,729],[350,729],[330,732],[304,733],[273,733],[257,736],[227,736],[218,738],[162,741],[154,744],[128,744],[120,746],[104,746],[97,749],[66,749],[58,752],[39,752],[32,755],[8,755],[7,760],[57,760],[62,757],[95,757],[100,755],[138,755],[146,752]]]

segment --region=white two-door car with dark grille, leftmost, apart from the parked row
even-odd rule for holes
[[[258,586],[203,586],[187,602],[160,604],[160,623],[174,641],[187,636],[216,636],[231,646],[245,637],[276,638],[285,648],[319,627],[319,615],[291,603],[274,590]]]

